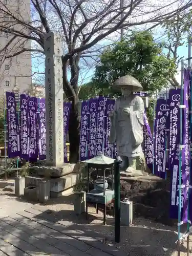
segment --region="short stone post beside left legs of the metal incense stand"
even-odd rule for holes
[[[86,212],[86,192],[75,192],[74,211],[76,215]]]

